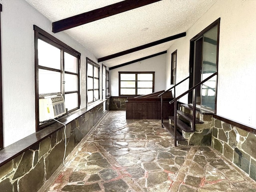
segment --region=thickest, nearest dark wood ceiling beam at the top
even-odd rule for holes
[[[52,32],[57,33],[112,15],[126,12],[161,0],[125,0],[86,13],[75,15],[52,23]]]

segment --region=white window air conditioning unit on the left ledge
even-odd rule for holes
[[[39,121],[52,120],[66,114],[63,96],[39,99]]]

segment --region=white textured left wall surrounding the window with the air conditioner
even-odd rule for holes
[[[86,57],[96,58],[65,32],[53,34],[52,24],[24,0],[1,0],[2,95],[4,147],[35,132],[33,24],[81,55],[81,108],[86,107]]]

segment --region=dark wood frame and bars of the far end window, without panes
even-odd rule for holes
[[[135,95],[122,95],[121,94],[121,74],[135,74],[136,79],[134,80],[135,82]],[[152,74],[153,75],[153,79],[152,79],[152,93],[154,92],[154,85],[155,85],[155,72],[118,72],[118,82],[119,82],[119,96],[139,96],[138,93],[138,79],[137,76],[138,74]],[[144,81],[144,80],[143,80]],[[151,81],[151,80],[150,80]],[[151,87],[150,87],[151,88]]]

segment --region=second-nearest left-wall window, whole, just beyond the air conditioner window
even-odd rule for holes
[[[87,104],[100,99],[100,66],[87,60]]]

